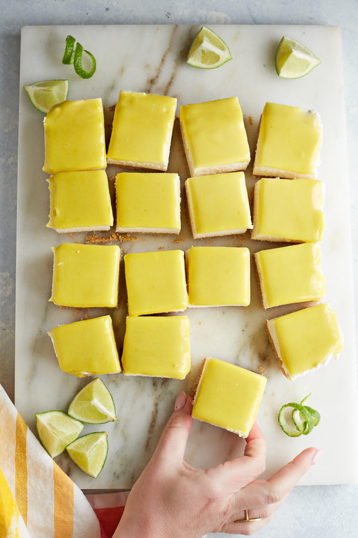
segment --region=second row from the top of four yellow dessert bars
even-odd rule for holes
[[[113,225],[105,171],[58,172],[48,180],[47,226],[57,232],[109,230]],[[324,230],[323,183],[264,178],[255,185],[253,224],[243,172],[188,178],[185,182],[194,239],[252,229],[252,239],[320,241]],[[116,175],[116,231],[180,232],[178,174]]]

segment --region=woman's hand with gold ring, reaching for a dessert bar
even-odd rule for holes
[[[266,444],[255,422],[244,456],[206,471],[184,460],[192,399],[180,392],[158,447],[131,490],[113,538],[199,538],[208,532],[252,534],[272,519],[299,478],[322,452],[308,448],[268,480]],[[249,518],[259,521],[236,522]]]

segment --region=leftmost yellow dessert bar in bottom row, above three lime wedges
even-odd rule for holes
[[[111,316],[59,325],[48,334],[63,372],[84,377],[122,371]]]

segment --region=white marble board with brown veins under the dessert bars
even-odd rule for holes
[[[251,305],[247,308],[190,309],[192,372],[185,381],[103,376],[111,390],[119,420],[91,430],[108,431],[107,462],[99,477],[90,478],[66,455],[56,461],[84,489],[127,488],[148,462],[160,432],[169,417],[178,391],[191,386],[201,360],[213,356],[258,371],[268,378],[259,411],[267,439],[266,476],[309,446],[325,451],[319,465],[301,484],[344,484],[357,481],[356,370],[354,349],[352,248],[350,244],[349,193],[345,131],[341,40],[338,27],[324,26],[213,26],[228,43],[233,60],[214,70],[186,65],[185,56],[199,26],[28,26],[21,34],[20,88],[40,80],[69,79],[71,100],[101,96],[106,116],[121,89],[147,91],[178,97],[181,104],[238,95],[245,115],[251,153],[254,154],[258,122],[266,101],[315,109],[322,116],[324,142],[318,179],[326,184],[326,229],[322,243],[327,299],[338,313],[345,336],[340,358],[292,383],[283,377],[265,334],[266,318],[295,308],[260,308],[253,271]],[[72,34],[97,59],[97,71],[89,80],[80,79],[72,66],[61,63],[65,37]],[[274,68],[274,53],[282,35],[310,47],[322,60],[308,76],[280,79]],[[34,413],[48,409],[67,410],[75,393],[89,380],[63,373],[47,335],[55,325],[76,321],[84,312],[60,309],[48,302],[52,283],[53,256],[50,246],[72,240],[84,242],[89,234],[57,235],[45,228],[49,210],[47,175],[43,165],[43,126],[25,92],[20,90],[19,162],[17,208],[16,288],[16,405],[35,430]],[[181,185],[187,178],[178,126],[174,128],[169,171],[179,172]],[[249,194],[254,178],[247,169]],[[116,170],[108,168],[108,176]],[[187,249],[193,244],[247,246],[252,252],[277,245],[251,241],[245,236],[193,240],[188,230],[182,200],[182,231],[176,236],[137,235],[121,242],[125,252]],[[109,236],[113,233],[103,233]],[[92,309],[90,317],[106,312]],[[121,350],[126,317],[126,292],[121,265],[119,308],[112,310]],[[190,378],[190,379],[189,379]],[[306,437],[289,438],[277,424],[277,412],[288,401],[299,401],[312,392],[309,405],[322,414],[322,421]],[[344,442],[344,457],[342,443]],[[209,466],[232,457],[243,448],[237,436],[195,421],[189,436],[186,459]]]

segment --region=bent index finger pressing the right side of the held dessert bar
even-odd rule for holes
[[[240,490],[265,471],[266,442],[257,421],[246,438],[243,456],[210,469],[215,480],[225,483],[233,492]]]

